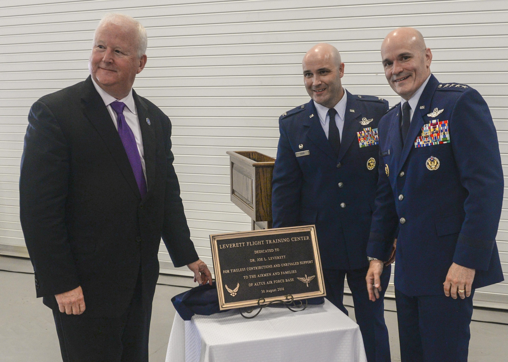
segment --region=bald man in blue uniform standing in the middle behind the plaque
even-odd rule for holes
[[[342,303],[347,276],[367,360],[390,361],[383,299],[373,304],[365,290],[378,177],[377,123],[388,102],[345,91],[340,81],[344,63],[329,44],[309,50],[302,65],[312,100],[279,119],[273,227],[315,224],[327,298],[347,314]],[[385,267],[383,290],[390,270]]]

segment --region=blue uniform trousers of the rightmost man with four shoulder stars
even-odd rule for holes
[[[401,362],[467,362],[473,294],[409,297],[395,289]]]

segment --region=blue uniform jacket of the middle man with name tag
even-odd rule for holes
[[[346,96],[338,157],[311,100],[279,118],[273,170],[273,227],[315,224],[321,261],[327,269],[368,266],[366,247],[379,147],[377,141],[360,147],[364,145],[358,132],[377,132],[377,123],[388,110],[388,101],[381,98],[349,92]],[[301,151],[310,153],[297,157]]]

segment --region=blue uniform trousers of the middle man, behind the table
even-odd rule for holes
[[[327,299],[347,315],[343,305],[344,276],[353,295],[356,322],[362,332],[363,345],[368,362],[390,361],[390,342],[385,324],[384,295],[390,281],[391,265],[385,267],[381,274],[383,291],[375,302],[369,301],[367,292],[368,267],[354,270],[323,269]]]

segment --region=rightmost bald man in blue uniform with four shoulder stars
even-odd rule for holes
[[[398,233],[402,362],[467,361],[474,289],[503,280],[495,242],[503,197],[496,129],[480,93],[430,73],[432,53],[419,31],[392,31],[381,55],[401,103],[378,126],[367,289],[375,301]]]

